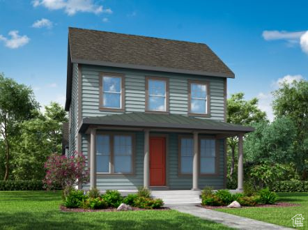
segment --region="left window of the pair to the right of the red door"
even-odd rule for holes
[[[194,140],[183,137],[180,139],[180,174],[192,174],[192,158]]]

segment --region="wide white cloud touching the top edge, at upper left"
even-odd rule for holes
[[[68,15],[75,13],[113,13],[110,8],[93,3],[93,0],[34,0],[33,7],[43,6],[49,10],[64,10]]]

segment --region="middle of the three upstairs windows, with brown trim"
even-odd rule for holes
[[[146,78],[146,110],[168,112],[168,79],[162,77]]]

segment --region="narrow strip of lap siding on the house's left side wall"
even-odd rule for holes
[[[78,132],[78,65],[72,65],[72,100],[70,104],[69,155],[77,151]]]

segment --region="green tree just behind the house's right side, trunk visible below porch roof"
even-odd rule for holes
[[[231,98],[227,102],[227,117],[228,123],[251,125],[266,120],[265,112],[262,112],[258,108],[258,99],[252,98],[252,100],[244,100],[244,93],[235,93],[231,95]],[[230,137],[228,139],[228,145],[231,148],[231,166],[230,166],[230,178],[234,171],[235,158],[236,158],[236,146],[238,144],[237,137]]]

